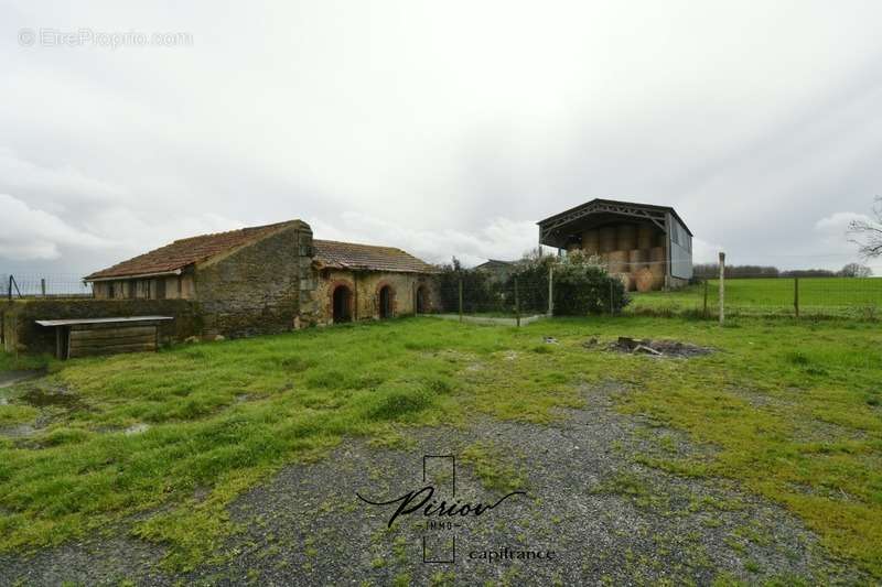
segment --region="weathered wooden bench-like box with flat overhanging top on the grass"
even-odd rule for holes
[[[35,320],[55,328],[55,356],[60,359],[138,352],[159,348],[159,325],[172,316],[128,316],[125,318],[72,318]]]

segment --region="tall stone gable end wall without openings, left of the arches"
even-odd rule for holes
[[[300,220],[196,265],[204,335],[291,330],[315,319],[312,229]]]

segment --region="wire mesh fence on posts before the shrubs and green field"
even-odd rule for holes
[[[555,267],[558,264],[551,263]],[[633,267],[632,267],[633,265]],[[720,316],[719,278],[670,279],[659,264],[601,261],[622,287],[593,292],[591,314]],[[723,280],[724,316],[795,316],[882,319],[882,278],[835,275],[830,271],[756,272],[735,268],[736,276]],[[553,271],[525,271],[513,267],[502,276],[463,270],[442,279],[442,313],[519,322],[530,316],[567,314],[555,309],[560,303]],[[727,273],[729,273],[727,271]],[[719,275],[719,270],[714,271]],[[550,297],[549,297],[550,296]]]

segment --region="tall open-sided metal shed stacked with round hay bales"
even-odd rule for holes
[[[670,206],[592,199],[538,222],[539,243],[595,256],[628,290],[686,285],[692,232]]]

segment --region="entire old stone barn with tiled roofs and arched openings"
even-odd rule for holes
[[[84,278],[98,300],[187,300],[205,337],[431,312],[435,269],[391,247],[318,240],[291,220],[202,235]]]

